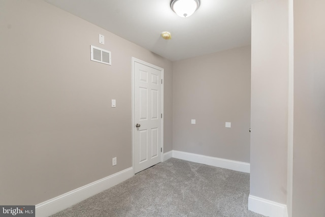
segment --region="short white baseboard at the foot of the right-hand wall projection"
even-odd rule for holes
[[[285,204],[249,195],[248,209],[269,217],[288,217]]]

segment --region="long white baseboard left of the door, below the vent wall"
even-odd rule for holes
[[[88,197],[98,194],[114,185],[134,176],[133,168],[122,170],[113,175],[91,182],[78,189],[62,194],[36,205],[36,216],[46,217],[79,203]]]

